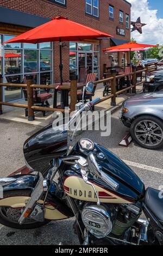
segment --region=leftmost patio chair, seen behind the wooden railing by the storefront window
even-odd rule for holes
[[[23,78],[23,83],[27,83],[26,77]],[[39,94],[39,89],[33,89],[33,99],[34,99],[34,105],[35,106],[41,106],[41,107],[49,107],[48,99],[52,98],[51,93],[42,93]],[[24,99],[27,101],[27,89],[23,89],[24,93]],[[28,117],[28,108],[25,109],[26,117]],[[43,117],[46,115],[46,111],[41,111],[43,114]]]

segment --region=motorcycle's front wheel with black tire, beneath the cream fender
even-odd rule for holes
[[[30,197],[30,191],[8,191],[4,192],[3,198],[12,197]],[[47,224],[49,221],[45,220],[44,222],[36,222],[31,218],[27,218],[26,221],[20,225],[18,219],[21,216],[23,208],[12,208],[10,206],[0,206],[0,223],[10,228],[17,229],[33,229],[39,228],[42,225]]]

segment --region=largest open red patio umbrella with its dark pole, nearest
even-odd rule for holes
[[[81,41],[90,38],[112,37],[109,34],[96,29],[86,27],[77,22],[68,20],[65,17],[54,17],[51,21],[31,29],[21,35],[10,39],[5,44],[11,42],[29,42],[37,44],[39,42],[59,41],[60,42],[60,80],[62,83],[62,57],[61,41]]]

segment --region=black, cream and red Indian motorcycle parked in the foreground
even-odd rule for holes
[[[99,100],[79,103],[70,122]],[[67,134],[48,125],[27,139],[26,166],[0,179],[0,223],[30,229],[75,216],[83,245],[163,245],[161,192],[102,145],[82,138],[72,147]]]

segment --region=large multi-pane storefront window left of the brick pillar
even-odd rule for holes
[[[0,74],[3,73],[3,82],[23,83],[24,76],[32,75],[33,83],[52,84],[52,43],[2,45],[2,42],[14,37],[0,35]],[[5,101],[21,99],[22,95],[21,88],[3,88]]]

